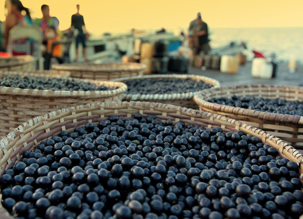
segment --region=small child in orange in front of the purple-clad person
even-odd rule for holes
[[[52,57],[55,57],[57,59],[62,57],[62,45],[59,43],[59,36],[57,35],[55,28],[52,26],[46,29],[45,38],[47,39],[47,54],[44,55],[44,69],[48,70],[50,68],[50,60]]]

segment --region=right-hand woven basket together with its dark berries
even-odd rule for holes
[[[258,127],[303,149],[303,88],[246,84],[202,91],[194,97],[201,110]]]

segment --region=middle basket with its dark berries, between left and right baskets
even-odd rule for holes
[[[144,75],[118,78],[128,86],[125,101],[150,101],[195,109],[193,96],[208,88],[220,87],[212,78],[187,74]]]

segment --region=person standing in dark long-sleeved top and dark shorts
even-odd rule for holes
[[[87,56],[86,56],[86,29],[85,29],[85,23],[84,23],[84,18],[83,16],[79,13],[80,10],[80,5],[77,5],[77,13],[72,15],[72,24],[71,24],[71,29],[77,29],[78,30],[78,35],[76,37],[76,59],[75,61],[78,61],[78,46],[79,43],[82,44],[82,52],[83,52],[83,57],[85,61],[88,61]]]

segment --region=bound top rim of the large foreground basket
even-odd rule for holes
[[[0,141],[0,152],[3,151],[3,149],[5,149],[5,146],[7,146],[10,142],[15,141],[15,139],[17,138],[17,136],[19,135],[23,135],[23,132],[27,129],[29,129],[29,131],[32,132],[33,126],[37,125],[38,123],[43,122],[43,124],[46,124],[48,122],[54,122],[54,120],[58,120],[59,115],[70,115],[73,114],[75,112],[84,112],[85,109],[90,109],[91,111],[88,111],[88,113],[92,112],[93,110],[106,110],[106,108],[111,108],[111,109],[118,109],[119,107],[122,106],[126,106],[128,109],[137,109],[139,107],[144,107],[146,109],[155,109],[155,111],[157,109],[165,109],[165,111],[171,111],[173,110],[174,112],[176,112],[177,114],[186,114],[189,115],[191,118],[200,118],[200,117],[207,117],[210,121],[221,121],[222,125],[235,125],[235,127],[237,127],[239,130],[244,131],[246,134],[256,134],[258,135],[259,139],[265,143],[268,144],[275,144],[278,146],[279,148],[279,152],[281,152],[283,154],[283,151],[289,151],[291,150],[291,156],[293,156],[296,160],[298,160],[298,164],[299,164],[299,168],[300,165],[303,165],[303,154],[301,154],[301,152],[299,152],[298,150],[296,150],[295,148],[293,148],[290,144],[284,142],[283,140],[279,139],[278,137],[275,137],[274,135],[271,135],[259,128],[250,126],[248,124],[245,124],[241,121],[232,119],[232,118],[228,118],[222,115],[218,115],[218,114],[214,114],[214,113],[210,113],[210,112],[206,112],[206,111],[201,111],[201,110],[194,110],[194,109],[190,109],[190,108],[185,108],[185,107],[181,107],[181,106],[175,106],[175,105],[171,105],[171,104],[163,104],[163,103],[155,103],[155,102],[140,102],[140,101],[119,101],[119,102],[102,102],[102,103],[91,103],[91,104],[85,104],[85,105],[78,105],[78,106],[72,106],[72,107],[68,107],[68,108],[63,108],[61,110],[57,110],[57,111],[52,111],[49,113],[45,113],[44,115],[41,116],[37,116],[35,118],[32,118],[24,123],[22,123],[21,125],[19,125],[17,128],[13,129],[11,132],[9,132],[8,135],[5,136],[5,138],[3,138]],[[169,112],[168,112],[169,113]],[[100,114],[101,115],[101,114]],[[104,115],[104,114],[103,114]],[[85,115],[84,115],[85,116]],[[60,119],[61,121],[61,119]],[[290,147],[290,148],[289,148]],[[286,149],[288,148],[288,149]],[[303,166],[302,168],[303,169]]]

